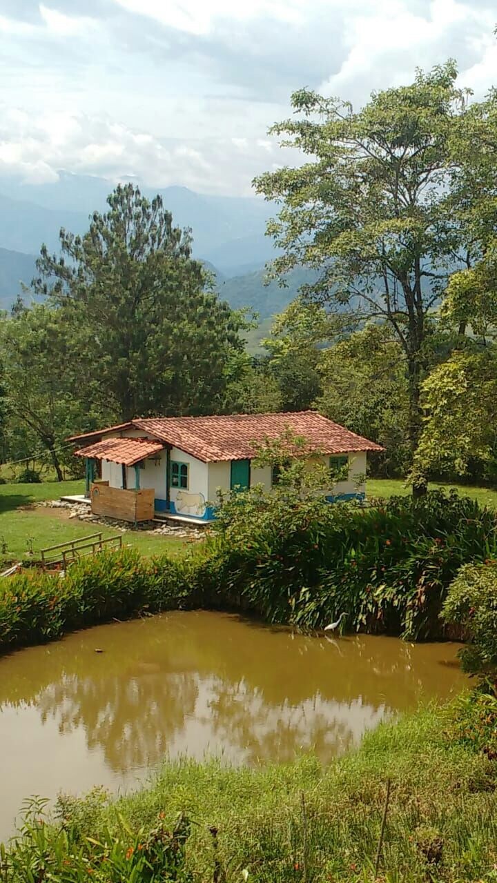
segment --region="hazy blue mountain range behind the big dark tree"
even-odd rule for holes
[[[105,211],[112,186],[103,178],[68,172],[60,172],[54,183],[39,185],[0,176],[0,307],[8,309],[20,283],[31,282],[42,243],[57,251],[61,227],[73,233],[88,230],[88,216]],[[277,254],[264,235],[273,205],[253,197],[196,193],[187,187],[141,187],[141,192],[149,198],[160,193],[173,223],[191,228],[194,257],[215,272],[219,295],[231,306],[248,306],[265,319],[294,298],[304,271],[296,271],[287,288],[276,282],[264,285],[264,265]]]

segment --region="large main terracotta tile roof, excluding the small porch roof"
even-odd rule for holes
[[[204,463],[253,457],[251,442],[278,438],[288,428],[296,435],[305,436],[310,450],[319,450],[323,454],[383,450],[380,445],[351,433],[317,411],[147,418],[134,419],[133,425]]]

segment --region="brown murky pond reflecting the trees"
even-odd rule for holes
[[[0,839],[26,796],[129,788],[164,755],[327,761],[388,714],[461,689],[456,653],[175,612],[4,657]]]

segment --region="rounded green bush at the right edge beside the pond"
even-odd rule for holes
[[[468,644],[463,667],[472,675],[497,679],[497,563],[494,551],[484,563],[466,564],[450,585],[443,606],[446,623],[463,629]]]

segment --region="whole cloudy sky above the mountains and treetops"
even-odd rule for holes
[[[356,106],[455,57],[497,82],[494,0],[0,0],[0,173],[250,192],[308,86]]]

